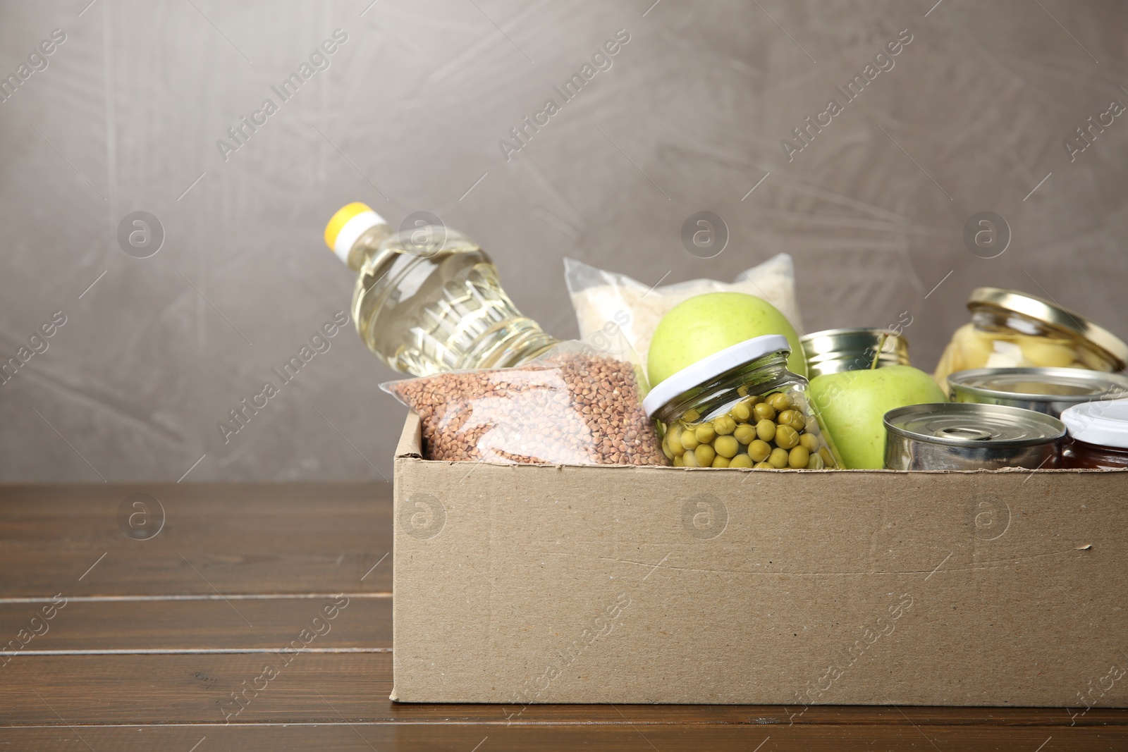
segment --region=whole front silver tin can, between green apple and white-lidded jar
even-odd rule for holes
[[[1055,467],[1065,425],[1006,405],[938,402],[885,413],[885,468],[997,470]]]

